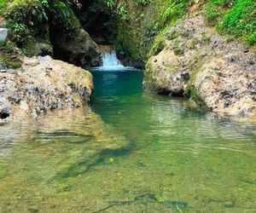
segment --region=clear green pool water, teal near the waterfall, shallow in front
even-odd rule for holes
[[[255,125],[95,71],[91,108],[0,126],[0,212],[255,212]]]

